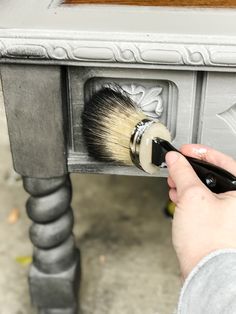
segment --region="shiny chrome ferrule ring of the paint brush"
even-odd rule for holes
[[[156,123],[156,121],[151,119],[143,119],[138,124],[136,124],[131,137],[130,137],[130,158],[134,165],[138,167],[139,169],[142,169],[141,163],[140,163],[140,143],[142,140],[142,136],[145,132],[145,130],[153,123]]]

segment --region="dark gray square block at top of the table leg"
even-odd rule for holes
[[[59,67],[1,65],[14,167],[23,176],[66,173]]]

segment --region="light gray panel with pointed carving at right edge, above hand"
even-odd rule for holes
[[[204,86],[198,141],[236,158],[236,73],[208,73]]]

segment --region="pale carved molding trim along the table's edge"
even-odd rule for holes
[[[57,35],[57,36],[56,36]],[[0,32],[0,60],[36,59],[187,66],[236,66],[235,38]],[[105,38],[105,39],[104,39]],[[116,38],[116,39],[114,39]],[[165,38],[165,39],[163,39]],[[194,40],[196,42],[194,42]]]

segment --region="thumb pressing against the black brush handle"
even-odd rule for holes
[[[190,163],[180,153],[171,151],[166,154],[169,175],[174,181],[178,195],[182,195],[189,187],[204,187]]]

